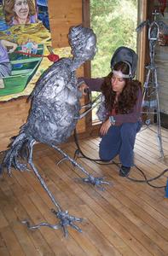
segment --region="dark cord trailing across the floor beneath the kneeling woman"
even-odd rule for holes
[[[82,157],[80,156],[80,158],[84,158],[86,160],[90,160],[90,161],[94,161],[96,162],[96,164],[99,164],[99,165],[115,165],[115,166],[119,166],[119,163],[116,163],[115,161],[111,161],[111,162],[108,162],[105,161],[105,160],[101,160],[101,159],[91,159],[90,157],[88,157],[87,155],[85,155],[82,151],[82,149],[80,148],[79,146],[79,143],[78,143],[78,136],[77,136],[77,131],[76,129],[74,130],[74,141],[75,141],[75,144],[77,145],[77,149],[75,151],[75,154],[74,154],[74,159],[77,158],[77,154],[81,154]],[[102,163],[104,162],[104,164]],[[154,180],[158,179],[159,177],[163,176],[165,174],[165,172],[168,172],[168,168],[165,169],[163,172],[161,172],[158,176],[156,177],[152,177],[152,178],[147,178],[147,176],[145,175],[145,173],[142,171],[142,169],[140,169],[138,166],[134,165],[136,167],[136,169],[142,173],[142,176],[144,177],[144,179],[136,179],[136,178],[132,178],[132,177],[127,177],[125,176],[127,179],[129,179],[130,181],[133,181],[133,182],[136,182],[136,183],[147,183],[149,186],[153,187],[154,189],[165,189],[166,186],[155,186],[153,184],[151,184],[151,182],[153,182]],[[122,169],[120,169],[121,172],[122,172]],[[124,172],[123,172],[124,173]]]

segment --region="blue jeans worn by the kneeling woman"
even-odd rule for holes
[[[110,126],[107,134],[102,137],[99,155],[101,160],[113,160],[119,154],[122,166],[134,165],[134,144],[136,133],[140,131],[142,123],[124,123],[119,126]]]

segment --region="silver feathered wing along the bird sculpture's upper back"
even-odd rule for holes
[[[66,66],[66,67],[65,67]],[[32,90],[32,94],[28,97],[28,100],[32,100],[32,98],[38,96],[38,93],[42,91],[44,88],[53,86],[57,80],[67,79],[68,76],[68,67],[69,67],[69,59],[61,59],[60,61],[56,61],[49,68],[47,68],[44,73],[38,79],[34,90]],[[61,81],[58,83],[58,90],[61,89]],[[60,85],[60,87],[59,87]]]

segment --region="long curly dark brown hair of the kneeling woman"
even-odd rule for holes
[[[124,74],[129,73],[129,66],[122,61],[116,63],[113,69]],[[105,96],[105,108],[109,113],[113,108],[116,109],[116,113],[130,113],[136,104],[138,90],[142,88],[141,83],[138,80],[124,79],[125,87],[119,94],[118,102],[115,102],[116,92],[112,88],[112,76],[113,72],[109,73],[101,85],[102,94]]]

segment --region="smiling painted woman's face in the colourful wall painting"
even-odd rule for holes
[[[29,14],[29,6],[26,0],[14,1],[14,12],[19,20],[26,20]]]

